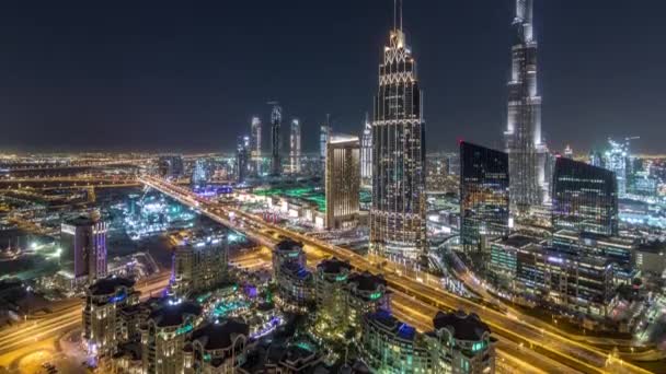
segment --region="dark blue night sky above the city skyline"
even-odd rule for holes
[[[405,1],[428,150],[502,148],[513,2]],[[536,2],[551,149],[666,153],[666,3]],[[0,148],[230,150],[279,100],[315,150],[326,113],[360,130],[391,24],[391,0],[3,1]]]

